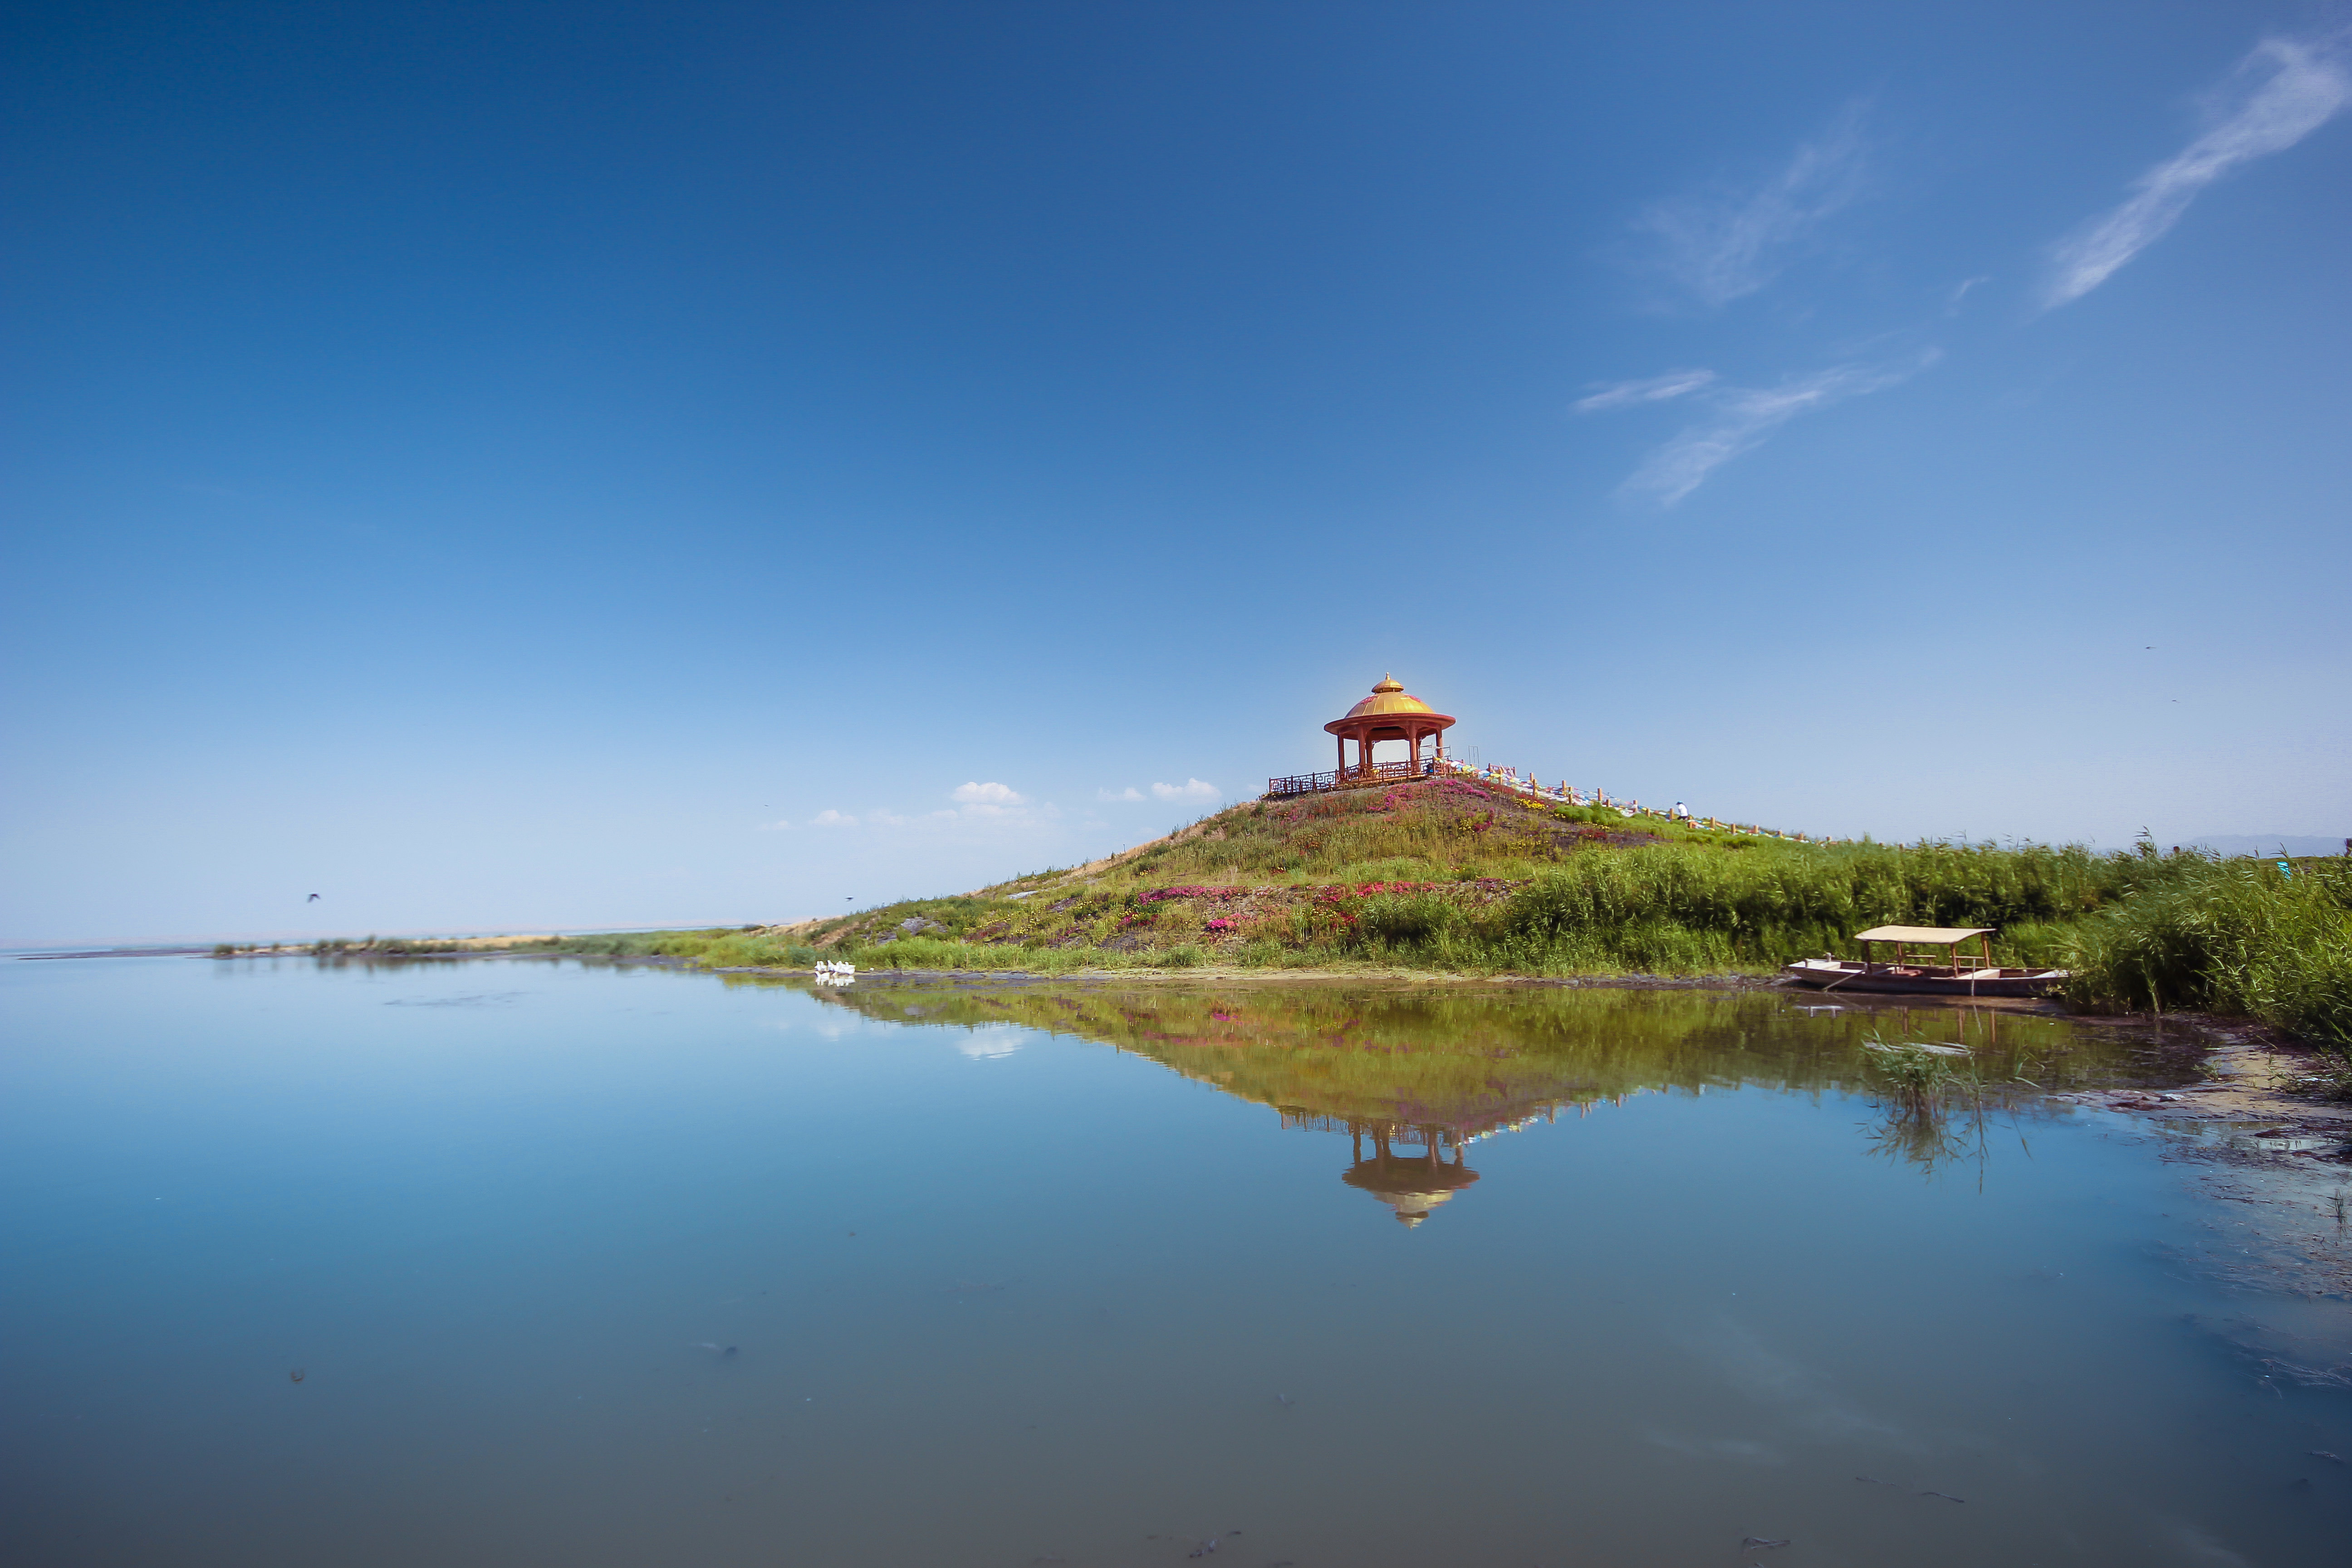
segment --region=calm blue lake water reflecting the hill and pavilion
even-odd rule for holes
[[[308,959],[0,1006],[12,1563],[2352,1561],[2352,1392],[2241,1349],[2345,1305],[2192,1267],[2246,1208],[2117,1119],[1889,1128],[1896,1013]]]

